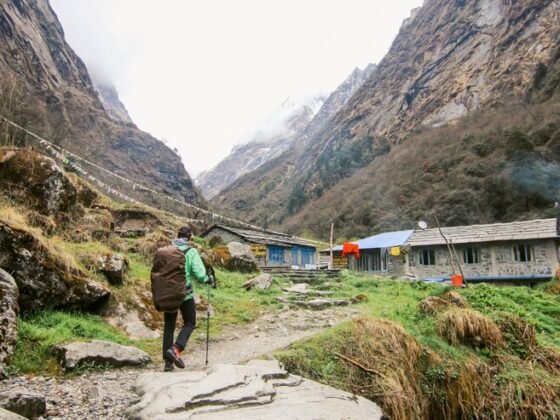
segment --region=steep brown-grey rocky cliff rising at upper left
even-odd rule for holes
[[[108,116],[47,0],[0,2],[0,83],[0,102],[10,102],[9,92],[22,98],[2,107],[8,117],[122,176],[203,203],[173,151],[133,124]],[[94,168],[87,169],[114,185]]]

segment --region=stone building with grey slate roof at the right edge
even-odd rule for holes
[[[405,244],[406,270],[445,280],[459,274],[458,261],[467,281],[549,280],[559,265],[559,245],[557,219],[416,230]]]

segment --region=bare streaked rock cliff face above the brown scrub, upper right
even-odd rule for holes
[[[320,196],[414,130],[523,96],[551,57],[559,12],[551,0],[426,1],[304,155],[298,188]]]

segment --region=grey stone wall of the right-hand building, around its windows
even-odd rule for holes
[[[516,262],[513,259],[514,244],[526,243],[532,247],[532,261]],[[479,250],[478,264],[463,262],[463,245],[455,246],[457,257],[465,276],[523,276],[553,274],[558,267],[558,244],[552,239],[523,242],[493,242],[468,245]],[[408,255],[408,271],[418,278],[449,276],[453,270],[449,264],[446,246],[425,247],[435,250],[435,265],[420,265],[419,250],[413,247]]]

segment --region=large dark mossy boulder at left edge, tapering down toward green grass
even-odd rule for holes
[[[110,296],[47,239],[2,221],[0,267],[16,281],[22,312],[48,307],[93,310]]]

